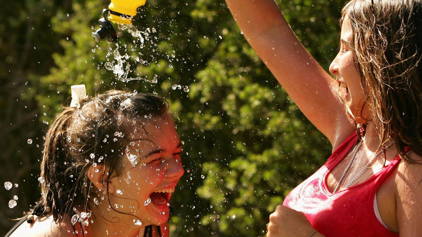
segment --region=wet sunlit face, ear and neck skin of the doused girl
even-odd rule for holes
[[[136,131],[127,135],[127,139],[131,141],[122,158],[122,174],[111,178],[108,186],[114,210],[102,193],[106,186],[106,173],[103,175],[105,167],[92,167],[94,172],[89,173],[94,176],[90,178],[94,185],[101,189],[98,192],[99,203],[93,212],[95,221],[88,229],[89,233],[93,233],[90,236],[103,236],[105,230],[122,236],[142,236],[145,226],[160,226],[168,221],[168,203],[184,173],[180,158],[181,142],[174,123],[168,116],[157,119],[137,127]],[[130,154],[138,157],[136,162],[128,159]],[[99,172],[95,172],[95,169]],[[151,202],[145,205],[149,198]],[[99,214],[102,217],[98,217]],[[142,224],[135,224],[135,221]],[[165,229],[168,231],[168,227]]]

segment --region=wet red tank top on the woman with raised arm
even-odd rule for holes
[[[396,156],[363,183],[335,194],[328,189],[328,173],[349,153],[356,142],[357,132],[354,132],[317,172],[287,195],[283,205],[303,212],[314,229],[326,237],[398,237],[398,234],[378,221],[373,201],[381,183],[400,162],[400,156]]]

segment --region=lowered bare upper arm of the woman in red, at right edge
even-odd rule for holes
[[[412,151],[408,156],[415,163],[401,161],[398,165],[396,183],[396,211],[400,237],[417,236],[422,232],[422,159]]]

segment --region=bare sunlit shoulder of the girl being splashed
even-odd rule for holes
[[[74,237],[75,230],[70,223],[69,218],[64,218],[64,221],[56,223],[53,215],[35,216],[34,222],[31,224],[26,221],[22,223],[10,237]]]

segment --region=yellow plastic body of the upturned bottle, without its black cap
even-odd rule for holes
[[[136,15],[136,9],[142,5],[144,5],[146,0],[111,0],[110,5],[108,8],[111,11],[115,11],[118,13],[125,14],[133,18]],[[120,24],[132,24],[132,19],[124,17],[124,16],[117,16],[112,12],[108,14],[107,19]]]

